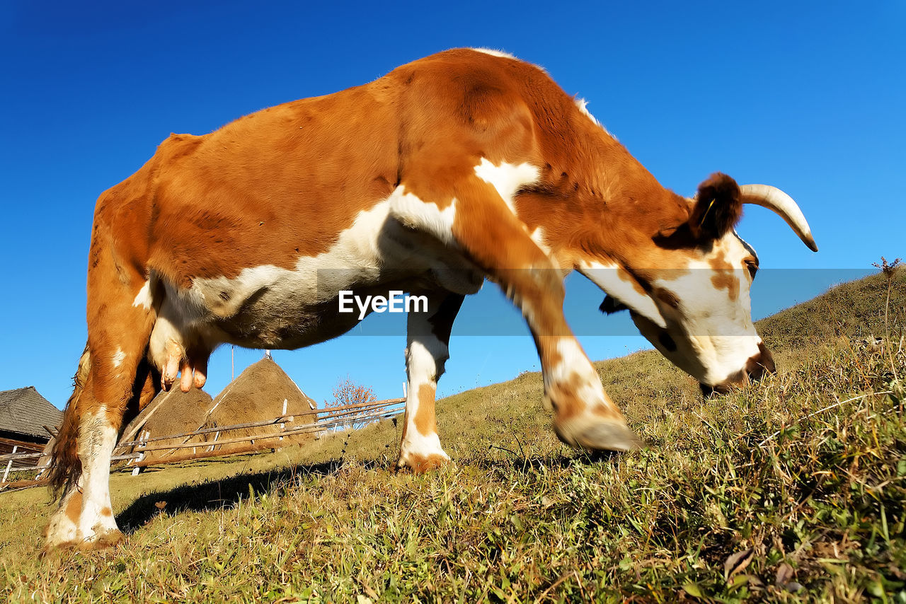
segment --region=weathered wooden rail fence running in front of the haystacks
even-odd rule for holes
[[[306,413],[303,417],[306,419],[314,417],[314,420],[304,424],[296,424],[294,416],[282,415],[280,417],[274,417],[273,419],[246,422],[245,424],[198,428],[197,430],[185,434],[148,436],[145,438],[141,436],[147,433],[139,428],[138,430],[133,430],[129,435],[123,435],[124,438],[129,438],[130,440],[120,440],[120,443],[114,447],[111,463],[126,461],[129,467],[135,468],[133,472],[134,475],[138,473],[139,468],[147,467],[149,465],[173,464],[176,462],[203,459],[206,457],[244,455],[263,451],[265,449],[275,449],[281,446],[280,441],[284,436],[315,434],[333,430],[347,425],[351,418],[354,418],[356,423],[361,423],[398,416],[403,412],[401,404],[405,401],[405,398],[389,398],[386,400],[371,401],[369,403],[345,405],[343,407],[313,409],[311,413]],[[230,430],[268,427],[274,426],[275,424],[280,425],[279,429],[266,434],[253,434],[218,439],[220,434],[229,432]],[[194,436],[204,436],[208,434],[214,434],[215,439],[212,441],[188,442]],[[136,438],[137,435],[139,435],[138,438]],[[168,440],[181,440],[182,442],[177,444],[163,442]],[[221,446],[235,445],[237,443],[248,443],[248,445],[230,447],[228,451],[217,450]],[[192,449],[192,451],[189,452],[188,449]],[[198,449],[204,450],[198,451]],[[150,451],[169,451],[172,455],[146,460],[145,456]],[[24,488],[46,484],[47,481],[42,479],[42,475],[51,467],[51,464],[34,465],[33,461],[35,458],[40,458],[43,455],[43,453],[17,452],[0,455],[0,468],[3,468],[2,480],[0,480],[0,491],[3,491],[4,489]],[[37,475],[31,479],[7,481],[10,475],[24,472],[37,472]]]

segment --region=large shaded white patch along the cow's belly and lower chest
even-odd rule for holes
[[[184,349],[201,342],[207,350],[221,342],[272,349],[310,345],[320,341],[318,329],[333,323],[342,332],[354,325],[355,317],[330,303],[338,292],[376,286],[388,272],[399,280],[400,268],[412,276],[433,275],[450,291],[476,292],[484,275],[455,249],[455,216],[455,199],[440,210],[400,186],[361,210],[330,249],[299,257],[292,269],[252,266],[233,278],[196,279],[188,290],[164,282],[150,356],[160,369],[171,340]]]

